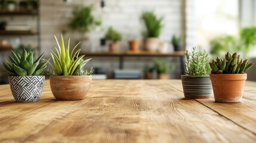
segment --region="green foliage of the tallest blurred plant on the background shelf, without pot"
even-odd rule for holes
[[[143,20],[146,30],[143,35],[145,38],[158,38],[163,24],[162,21],[164,17],[157,17],[153,11],[144,11],[141,15],[141,19]]]

